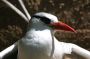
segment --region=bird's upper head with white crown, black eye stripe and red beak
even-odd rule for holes
[[[46,24],[47,26],[55,30],[65,30],[65,31],[76,32],[72,27],[70,27],[69,25],[63,22],[58,21],[56,16],[49,13],[39,12],[34,14],[32,18],[39,19],[39,21],[43,22],[44,24]]]

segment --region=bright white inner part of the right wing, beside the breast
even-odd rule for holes
[[[56,38],[54,41],[55,41],[55,50],[53,54],[54,59],[62,59],[65,54],[71,54],[72,52],[71,43],[59,42]]]

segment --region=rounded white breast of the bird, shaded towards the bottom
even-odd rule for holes
[[[26,55],[28,58],[48,58],[52,50],[52,37],[50,32],[33,31],[26,35],[27,37],[19,41],[19,54]],[[28,59],[23,57],[24,59]],[[20,57],[21,58],[21,57]]]

